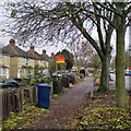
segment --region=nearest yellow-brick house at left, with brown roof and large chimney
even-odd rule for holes
[[[13,79],[27,76],[28,56],[26,51],[15,46],[14,39],[11,39],[10,44],[2,48],[2,51],[10,55],[9,78]]]

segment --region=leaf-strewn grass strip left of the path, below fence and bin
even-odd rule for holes
[[[10,117],[2,121],[2,129],[25,129],[50,115],[51,114],[48,109],[25,104],[23,112],[10,112]]]

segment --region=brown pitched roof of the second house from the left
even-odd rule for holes
[[[33,50],[33,49],[29,49],[26,52],[27,52],[27,56],[29,58],[33,58],[33,59],[36,59],[36,60],[43,60],[43,57],[38,52],[36,52],[35,50]]]

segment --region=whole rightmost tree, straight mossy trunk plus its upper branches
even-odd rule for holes
[[[116,29],[116,102],[118,106],[127,107],[127,92],[124,82],[124,35],[126,29],[129,26],[131,19],[128,16],[131,12],[131,2],[115,2],[114,7],[106,7],[102,3],[97,3],[100,10],[105,9],[114,12],[115,22],[104,17]]]

